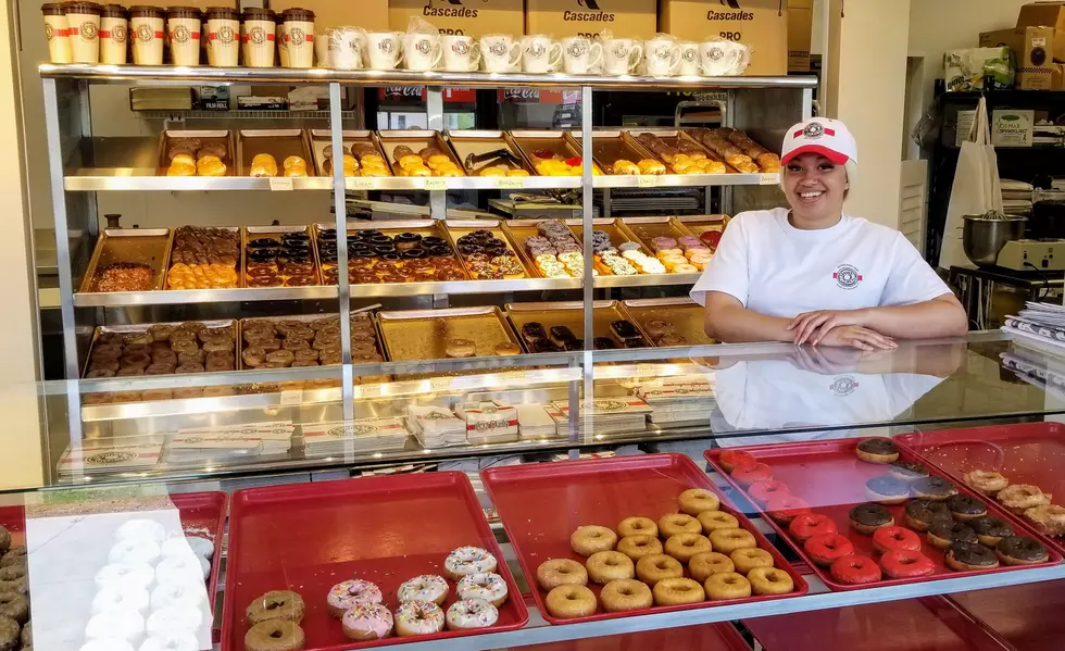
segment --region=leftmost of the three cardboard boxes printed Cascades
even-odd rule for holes
[[[414,16],[442,34],[525,34],[524,0],[388,0],[389,29],[406,32]]]

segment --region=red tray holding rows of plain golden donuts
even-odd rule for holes
[[[703,601],[687,605],[652,606],[622,613],[598,612],[587,617],[552,617],[543,604],[547,592],[536,583],[536,568],[549,559],[585,558],[569,548],[569,535],[581,525],[617,526],[622,519],[642,515],[657,521],[677,513],[677,496],[688,488],[706,488],[721,494],[690,459],[682,454],[644,454],[613,459],[560,461],[489,468],[480,472],[506,536],[514,546],[522,571],[529,581],[540,614],[552,624],[573,624],[612,619],[646,613],[713,608],[732,603],[800,597],[809,591],[806,581],[742,513],[722,500],[722,511],[731,513],[740,526],[754,535],[759,547],[773,554],[774,565],[787,572],[795,589],[777,597],[749,597],[725,601]],[[589,588],[599,597],[600,586]]]

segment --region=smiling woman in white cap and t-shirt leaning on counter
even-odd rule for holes
[[[857,173],[843,123],[793,126],[780,160],[790,210],[737,215],[691,289],[707,335],[888,350],[965,334],[962,305],[901,233],[843,214]]]

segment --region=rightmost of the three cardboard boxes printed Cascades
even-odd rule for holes
[[[685,40],[741,42],[751,48],[748,75],[788,73],[788,9],[780,0],[730,0],[728,4],[662,0],[659,30]]]

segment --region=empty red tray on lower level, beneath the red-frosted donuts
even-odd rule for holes
[[[765,651],[1008,649],[942,597],[760,617],[743,624]]]

